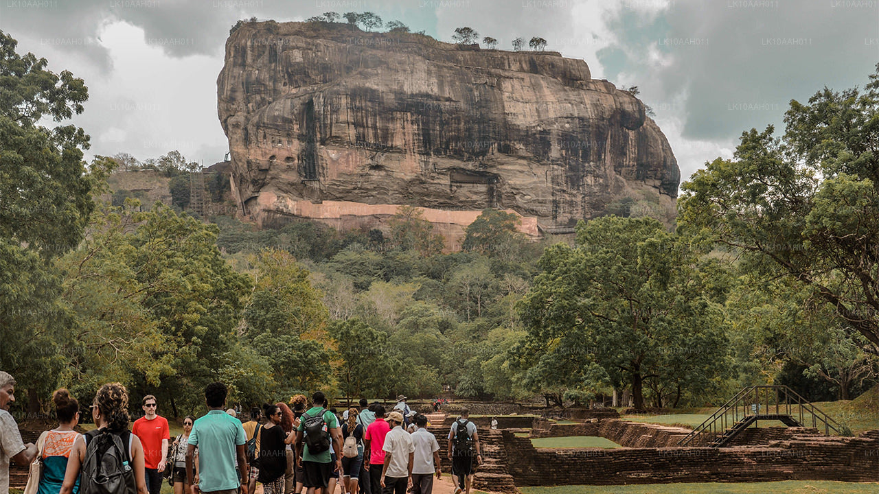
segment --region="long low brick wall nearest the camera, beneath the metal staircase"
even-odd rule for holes
[[[797,436],[768,447],[534,448],[503,432],[517,485],[879,481],[879,438]]]

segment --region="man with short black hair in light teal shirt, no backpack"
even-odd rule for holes
[[[229,390],[222,382],[205,387],[207,415],[193,424],[186,447],[186,478],[192,494],[217,492],[236,494],[247,485],[247,454],[244,451],[244,428],[241,421],[223,411]],[[199,448],[199,483],[194,483],[195,448]],[[243,480],[243,483],[241,480]]]

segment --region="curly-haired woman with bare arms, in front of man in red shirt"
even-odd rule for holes
[[[147,494],[147,481],[144,476],[143,446],[141,440],[128,431],[128,391],[119,382],[109,382],[95,395],[95,401],[91,405],[91,417],[95,419],[98,428],[86,432],[76,438],[73,443],[73,451],[67,462],[67,471],[64,473],[64,483],[61,486],[61,494],[72,494],[76,481],[80,478],[80,469],[85,461],[85,452],[91,441],[106,440],[105,434],[116,436],[121,440],[125,451],[122,453],[127,458],[129,469],[125,470],[123,477],[129,488],[136,487],[138,494]],[[113,438],[109,438],[113,440]],[[100,444],[100,443],[96,443]],[[82,479],[83,489],[95,479]]]

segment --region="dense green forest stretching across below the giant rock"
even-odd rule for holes
[[[444,253],[414,207],[345,232],[198,217],[179,154],[150,163],[183,177],[172,204],[110,194],[131,163],[85,163],[88,135],[64,124],[84,81],[0,47],[0,368],[29,398],[18,410],[61,385],[89,403],[106,381],[179,416],[215,380],[243,405],[447,386],[559,406],[618,389],[639,409],[767,382],[849,398],[877,380],[879,72],[792,101],[781,137],[745,132],[682,186],[671,231],[610,215],[534,243],[488,209]]]

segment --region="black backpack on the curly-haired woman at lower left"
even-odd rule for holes
[[[131,432],[120,434],[95,430],[85,433],[85,460],[81,494],[137,494],[134,469],[128,451]]]

